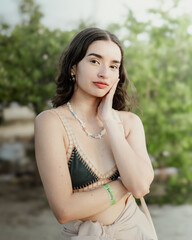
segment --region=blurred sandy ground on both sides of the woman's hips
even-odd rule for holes
[[[192,205],[149,206],[159,240],[192,239]],[[59,240],[60,225],[42,187],[0,184],[0,240]]]

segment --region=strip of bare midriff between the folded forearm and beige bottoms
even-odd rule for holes
[[[93,215],[91,217],[80,219],[81,221],[93,221],[93,222],[100,222],[103,225],[110,225],[112,224],[123,212],[126,202],[128,201],[128,198],[130,196],[130,193],[125,195],[119,202],[116,204],[110,206],[105,211],[100,212],[96,215]]]

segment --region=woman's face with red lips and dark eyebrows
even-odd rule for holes
[[[112,41],[91,43],[84,58],[73,67],[77,88],[75,93],[103,97],[119,78],[121,51]]]

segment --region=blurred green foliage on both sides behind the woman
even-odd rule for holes
[[[120,36],[128,76],[137,89],[149,153],[154,166],[175,166],[179,174],[168,180],[167,196],[159,202],[180,203],[191,198],[192,186],[192,37],[190,16],[173,17],[178,7],[151,9],[154,22],[141,22],[128,11],[123,25],[108,29]],[[21,1],[21,23],[10,31],[0,26],[0,101],[32,104],[36,113],[55,94],[55,69],[61,51],[76,30],[51,31],[41,24],[42,13],[33,0]],[[94,25],[94,24],[92,24]],[[90,25],[89,25],[90,26]],[[171,197],[170,197],[171,196]]]

